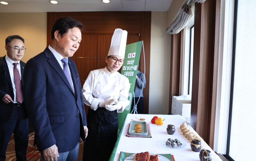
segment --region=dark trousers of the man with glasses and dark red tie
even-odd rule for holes
[[[16,160],[27,160],[28,118],[25,116],[25,111],[25,107],[13,106],[10,120],[0,123],[0,161],[6,159],[6,149],[12,133],[14,133]]]

